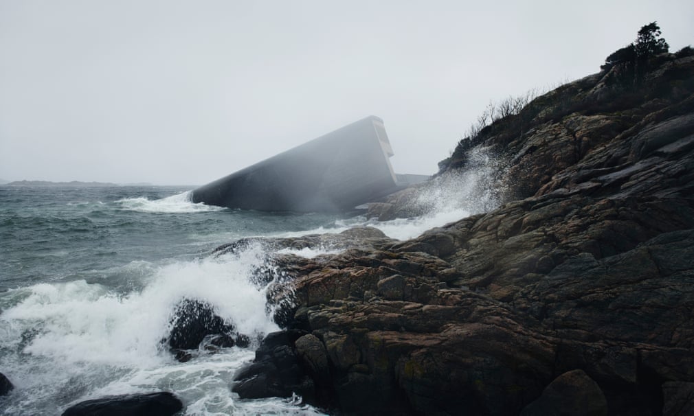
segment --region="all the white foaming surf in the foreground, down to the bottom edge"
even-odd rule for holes
[[[229,385],[253,349],[233,347],[182,365],[162,339],[183,298],[210,303],[252,339],[278,330],[266,315],[264,288],[249,279],[263,259],[260,247],[251,247],[237,255],[170,263],[155,270],[142,291],[121,295],[84,280],[4,294],[3,372],[26,396],[17,397],[11,410],[36,413],[58,396],[83,400],[166,389],[182,397],[190,415],[246,413]]]

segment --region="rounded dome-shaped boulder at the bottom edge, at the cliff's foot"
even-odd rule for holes
[[[521,416],[607,416],[607,400],[583,370],[561,374],[539,399],[526,406]]]

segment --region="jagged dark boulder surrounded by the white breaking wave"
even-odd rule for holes
[[[248,336],[236,333],[232,324],[214,313],[212,305],[200,300],[181,301],[176,306],[172,324],[167,343],[176,359],[182,363],[192,358],[192,354],[185,350],[198,349],[205,340],[208,340],[205,346],[212,346],[205,348],[208,351],[235,345],[248,347],[250,344]]]

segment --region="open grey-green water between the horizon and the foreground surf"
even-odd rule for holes
[[[335,216],[187,202],[183,187],[0,187],[0,288],[112,277],[132,261],[191,259],[241,236],[335,227]]]

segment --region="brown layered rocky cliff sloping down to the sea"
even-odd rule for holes
[[[267,242],[346,250],[273,257],[287,331],[234,390],[346,415],[694,414],[694,57],[637,81],[616,65],[462,141],[439,177],[485,148],[496,209],[411,241]]]

